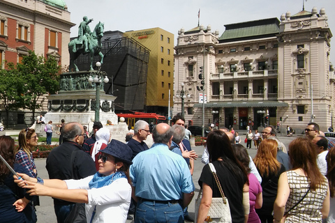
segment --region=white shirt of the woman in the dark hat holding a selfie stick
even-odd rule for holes
[[[87,223],[91,222],[94,208],[94,223],[126,222],[131,205],[131,185],[126,178],[119,178],[110,185],[100,188],[89,188],[93,178],[88,176],[81,180],[64,180],[68,189],[86,189],[89,202],[85,205]]]

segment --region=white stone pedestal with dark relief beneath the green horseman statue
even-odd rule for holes
[[[52,121],[54,130],[59,128],[55,125],[61,123],[78,122],[87,125],[89,131],[93,128],[96,109],[96,88],[95,84],[89,84],[89,76],[96,75],[97,71],[65,72],[61,74],[61,87],[58,94],[47,96],[48,111],[45,120]],[[100,121],[103,126],[107,126],[112,132],[121,132],[126,136],[128,126],[118,126],[118,118],[114,113],[114,100],[117,97],[107,95],[103,91],[103,84],[100,89]],[[110,123],[110,125],[107,125]],[[118,126],[118,127],[117,127]]]

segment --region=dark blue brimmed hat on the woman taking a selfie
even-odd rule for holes
[[[121,141],[112,139],[110,144],[108,144],[106,148],[100,150],[99,152],[112,155],[128,165],[133,164],[133,162],[131,162],[133,151],[127,144],[124,144]]]

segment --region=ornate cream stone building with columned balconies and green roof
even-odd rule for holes
[[[279,122],[301,133],[310,121],[321,130],[333,124],[332,33],[324,8],[227,24],[218,34],[202,25],[179,30],[174,95],[184,84],[186,123],[202,125],[204,107],[204,125],[237,130]],[[173,114],[180,112],[181,99],[174,98]]]

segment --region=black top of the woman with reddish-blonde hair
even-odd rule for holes
[[[256,209],[256,213],[260,215],[271,215],[272,210],[274,210],[274,201],[277,197],[279,176],[281,176],[283,172],[285,172],[285,167],[281,164],[281,168],[278,172],[270,173],[269,176],[262,176],[262,183],[260,185],[263,190],[263,205],[262,208]]]

